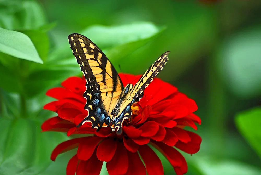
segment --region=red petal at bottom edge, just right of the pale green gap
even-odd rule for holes
[[[123,143],[117,142],[117,149],[111,161],[107,162],[109,175],[125,174],[128,170],[127,150]]]

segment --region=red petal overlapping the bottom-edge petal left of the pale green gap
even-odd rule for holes
[[[84,161],[90,159],[94,149],[102,139],[103,139],[102,137],[97,137],[97,136],[85,137],[85,139],[79,144],[77,150],[78,159]]]

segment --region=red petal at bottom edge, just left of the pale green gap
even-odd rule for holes
[[[102,169],[102,161],[99,161],[95,154],[96,150],[94,150],[94,153],[88,159],[87,161],[80,161],[78,167],[77,167],[77,175],[99,175],[100,170]]]

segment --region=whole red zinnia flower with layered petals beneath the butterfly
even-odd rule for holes
[[[124,85],[128,81],[135,84],[141,77],[126,76],[128,80],[120,74]],[[76,128],[87,116],[84,110],[86,100],[82,97],[85,83],[84,79],[70,77],[62,82],[63,87],[52,88],[46,93],[58,101],[46,104],[44,109],[57,112],[58,116],[46,120],[42,125],[43,131],[67,132],[68,136],[92,134],[65,141],[52,152],[51,160],[54,161],[58,154],[78,147],[77,154],[68,162],[67,175],[75,172],[77,175],[98,175],[103,161],[107,162],[110,175],[164,174],[161,161],[151,146],[169,160],[178,175],[187,172],[185,158],[173,146],[189,154],[199,151],[201,137],[183,129],[185,126],[197,129],[195,123],[201,123],[200,118],[193,114],[198,109],[194,100],[178,92],[171,84],[155,78],[145,89],[140,102],[133,104],[132,118],[124,121],[122,136],[117,136],[111,134],[110,127],[96,132],[88,122]]]

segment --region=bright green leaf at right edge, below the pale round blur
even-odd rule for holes
[[[261,158],[261,107],[236,115],[236,126]]]

